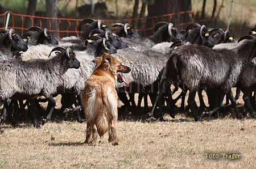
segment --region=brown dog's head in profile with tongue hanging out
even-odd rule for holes
[[[108,71],[113,71],[114,73],[129,73],[131,68],[125,65],[122,65],[121,61],[117,58],[114,58],[109,53],[104,53],[102,57],[96,57],[94,62],[96,63],[96,69],[105,69]],[[118,82],[122,81],[129,86],[129,83],[125,81],[125,78],[121,74],[117,74]]]

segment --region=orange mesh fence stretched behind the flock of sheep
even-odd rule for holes
[[[216,6],[216,9],[220,8],[220,6]],[[213,8],[205,9],[213,10]],[[80,33],[78,30],[79,23],[82,19],[72,19],[72,18],[48,18],[44,16],[30,16],[30,15],[22,15],[15,14],[11,11],[6,11],[4,14],[0,14],[0,28],[5,28],[7,14],[10,13],[10,20],[7,28],[14,28],[19,35],[23,35],[24,32],[27,31],[27,28],[24,27],[25,22],[30,22],[31,26],[38,26],[42,28],[48,28],[50,32],[55,32],[57,37],[65,37],[65,36],[79,36]],[[197,22],[199,24],[205,24],[207,27],[213,28],[222,28],[224,31],[226,30],[227,23],[223,23],[223,20],[228,20],[228,16],[222,18],[213,18],[213,19],[202,19],[201,10],[191,10],[191,11],[183,11],[174,14],[166,14],[154,17],[145,17],[145,18],[137,18],[137,19],[118,19],[118,20],[102,20],[110,30],[112,29],[112,25],[114,23],[129,23],[134,27],[135,31],[137,31],[143,37],[151,35],[152,29],[155,24],[160,21],[172,22],[179,29],[185,29],[188,24]],[[200,18],[200,19],[197,19]],[[84,18],[85,19],[85,18]],[[234,18],[233,18],[234,19]],[[52,20],[57,22],[57,29],[54,30],[52,28]],[[96,19],[97,20],[97,19]],[[3,24],[1,24],[3,23]],[[246,35],[251,28],[240,28],[236,27],[236,21],[230,23],[229,31],[232,36],[241,37],[242,35]]]

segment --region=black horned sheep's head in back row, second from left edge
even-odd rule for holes
[[[23,33],[22,38],[27,39],[26,43],[28,46],[38,44],[59,44],[47,28],[42,29],[36,26],[28,28],[27,32]]]

